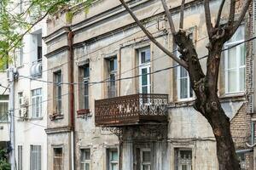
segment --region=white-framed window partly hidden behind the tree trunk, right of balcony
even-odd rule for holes
[[[190,36],[191,35],[191,36]],[[192,38],[192,34],[189,34]],[[174,45],[176,49],[176,56],[179,58],[180,53],[177,51],[177,44]],[[182,66],[177,67],[177,99],[190,99],[193,97],[193,90],[191,88],[189,73]]]

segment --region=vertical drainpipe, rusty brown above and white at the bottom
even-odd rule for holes
[[[68,51],[67,51],[67,62],[68,62],[68,80],[70,84],[68,85],[68,93],[69,93],[69,113],[70,113],[70,121],[69,127],[71,128],[71,169],[75,169],[75,123],[74,123],[74,94],[73,94],[73,31],[69,29],[67,35],[67,43],[68,43]]]

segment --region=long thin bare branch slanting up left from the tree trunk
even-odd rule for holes
[[[125,7],[126,11],[131,14],[131,17],[133,18],[133,20],[135,20],[135,22],[137,23],[137,26],[139,26],[142,31],[146,34],[146,36],[152,41],[154,42],[154,44],[160,48],[165,54],[167,54],[169,57],[171,57],[172,59],[174,59],[179,65],[183,66],[184,68],[188,68],[188,65],[181,59],[178,59],[174,54],[172,54],[168,49],[166,49],[164,46],[162,46],[160,44],[160,42],[156,41],[156,39],[152,36],[152,34],[145,28],[145,26],[143,26],[142,22],[140,20],[137,19],[137,16],[135,14],[133,14],[133,12],[131,11],[131,8],[129,8],[127,6],[127,4],[125,3],[124,0],[119,0],[120,3],[122,3],[122,5]]]

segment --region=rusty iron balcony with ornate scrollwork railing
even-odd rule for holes
[[[95,123],[120,127],[167,121],[168,94],[132,94],[95,101]]]

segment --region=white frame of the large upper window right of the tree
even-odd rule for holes
[[[244,26],[241,26],[238,29],[242,29],[242,31],[245,31]],[[229,47],[231,47],[233,45],[236,45],[237,43],[244,42],[244,40],[245,40],[245,37],[243,37],[241,40],[237,40],[237,41],[234,41],[234,42],[226,42],[224,44],[224,48],[229,48]],[[229,58],[230,58],[229,57],[229,50],[225,50],[224,51],[225,94],[241,94],[241,93],[245,92],[245,89],[240,90],[240,69],[241,68],[246,68],[246,61],[245,61],[244,65],[241,65],[241,46],[244,46],[244,49],[246,48],[245,44],[241,44],[241,45],[238,45],[238,46],[234,47],[234,48],[236,48],[236,68],[228,69],[228,62],[229,62]],[[245,55],[244,57],[246,59],[246,49],[244,51],[244,55]],[[233,91],[233,92],[229,92],[229,75],[228,75],[228,71],[230,71],[230,70],[236,70],[236,82],[234,82],[234,83],[236,83],[236,90]],[[246,79],[246,76],[244,78]]]

